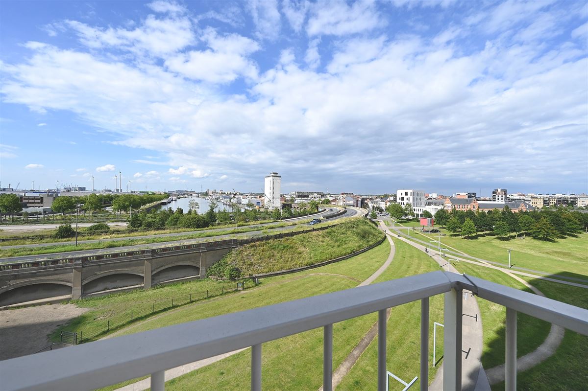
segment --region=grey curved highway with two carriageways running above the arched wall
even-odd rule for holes
[[[331,209],[335,209],[335,208],[331,208]],[[339,218],[345,218],[345,217],[353,217],[358,215],[360,212],[360,210],[356,209],[356,208],[348,208],[346,209],[345,213],[336,217],[326,217],[329,221],[330,220],[337,220]],[[330,210],[325,210],[322,213],[315,215],[315,216],[319,216],[319,215],[332,215],[333,212],[331,212]],[[300,217],[300,218],[296,218],[296,219],[292,219],[289,221],[293,221],[293,220],[305,220],[308,217]],[[146,248],[157,248],[157,247],[166,247],[168,245],[173,245],[173,244],[195,244],[195,243],[201,243],[201,242],[207,242],[207,241],[217,241],[217,240],[225,240],[225,239],[229,239],[229,238],[235,238],[236,236],[239,237],[248,237],[248,236],[252,236],[255,234],[261,234],[263,233],[264,230],[268,230],[268,225],[276,225],[279,223],[266,223],[266,224],[258,224],[258,225],[249,225],[248,227],[259,227],[259,228],[263,228],[263,230],[256,230],[256,231],[249,231],[249,232],[243,232],[242,234],[226,234],[226,235],[218,235],[218,236],[213,236],[213,237],[205,237],[205,238],[194,238],[194,239],[186,239],[186,240],[171,240],[171,241],[166,241],[166,242],[156,242],[156,243],[147,243],[147,244],[136,244],[136,245],[128,245],[128,246],[121,246],[121,247],[111,247],[111,248],[99,248],[96,250],[81,250],[81,251],[66,251],[66,252],[51,252],[49,254],[38,254],[38,255],[22,255],[19,257],[9,257],[9,258],[0,258],[0,263],[10,263],[10,262],[22,262],[22,261],[33,261],[35,259],[49,259],[49,258],[68,258],[68,257],[79,257],[82,255],[96,255],[96,254],[108,254],[111,252],[116,252],[116,251],[125,251],[125,250],[144,250]],[[319,225],[320,226],[320,225]],[[289,228],[293,228],[293,225],[290,225],[288,227],[276,227],[276,228],[270,228],[268,231],[270,232],[279,232],[279,231],[284,231],[284,230],[288,230]],[[204,230],[204,231],[192,231],[192,232],[175,232],[173,234],[162,234],[162,235],[148,235],[148,236],[142,236],[142,237],[128,237],[128,238],[115,238],[112,240],[91,240],[91,241],[83,241],[83,242],[103,242],[103,241],[115,241],[115,240],[129,240],[129,239],[139,239],[139,238],[153,238],[153,237],[174,237],[174,236],[181,236],[181,235],[189,235],[189,234],[194,234],[194,233],[201,233],[201,232],[211,232],[211,231],[226,231],[226,228],[219,228],[216,230]],[[78,241],[78,243],[80,243],[80,241]],[[71,244],[71,242],[69,242],[68,244]],[[51,245],[56,245],[56,243],[42,243],[42,244],[34,244],[34,245],[19,245],[19,246],[10,246],[10,247],[28,247],[28,246],[35,246],[35,247],[39,247],[39,246],[51,246]],[[5,246],[2,248],[8,248],[9,246]]]

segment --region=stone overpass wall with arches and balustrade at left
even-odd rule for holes
[[[69,257],[60,254],[51,259],[45,256],[0,264],[0,307],[57,297],[79,299],[204,278],[207,268],[241,245],[312,230]]]

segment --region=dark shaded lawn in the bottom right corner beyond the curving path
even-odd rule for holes
[[[544,281],[531,277],[522,277],[548,298],[588,309],[588,290]],[[520,338],[520,333],[518,333]],[[517,389],[522,391],[552,390],[586,390],[588,385],[588,367],[586,352],[588,336],[566,330],[562,345],[555,354],[525,372],[517,373]],[[493,390],[505,389],[505,383],[492,386]]]

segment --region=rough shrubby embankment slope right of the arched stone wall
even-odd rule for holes
[[[368,221],[353,219],[323,231],[244,245],[229,252],[206,274],[236,279],[305,267],[369,247],[383,236]]]

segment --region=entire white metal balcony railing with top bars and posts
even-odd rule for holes
[[[251,389],[261,389],[262,344],[324,328],[323,385],[332,390],[333,323],[378,312],[378,390],[386,387],[386,309],[421,301],[420,379],[428,379],[429,297],[445,294],[443,389],[462,381],[462,290],[506,306],[506,389],[516,389],[516,313],[588,335],[588,310],[467,275],[435,271],[0,362],[2,390],[92,390],[251,346]],[[358,336],[359,338],[359,336]],[[421,390],[427,382],[421,382]]]

